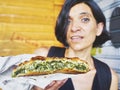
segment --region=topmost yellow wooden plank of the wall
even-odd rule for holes
[[[4,6],[36,7],[53,9],[53,0],[0,0]]]

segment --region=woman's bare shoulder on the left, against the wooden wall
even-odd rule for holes
[[[40,47],[39,49],[34,51],[34,54],[46,57],[49,52],[49,49],[50,47]]]

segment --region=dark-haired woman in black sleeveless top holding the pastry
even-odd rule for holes
[[[51,47],[45,56],[79,57],[90,71],[76,77],[53,81],[45,90],[117,90],[116,73],[91,56],[91,49],[109,40],[105,16],[93,0],[66,0],[59,14],[55,35],[65,48]],[[34,90],[41,90],[34,87]]]

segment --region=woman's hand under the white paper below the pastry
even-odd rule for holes
[[[67,79],[64,80],[54,80],[49,85],[45,87],[44,90],[59,90],[59,88],[67,81]]]

